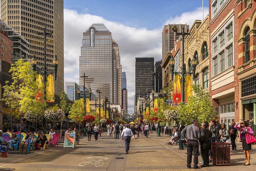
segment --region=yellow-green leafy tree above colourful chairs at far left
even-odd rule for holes
[[[38,92],[43,91],[43,87],[38,81],[35,81],[37,73],[31,68],[30,62],[24,62],[23,59],[18,60],[11,65],[9,71],[12,74],[12,82],[6,81],[6,85],[3,86],[2,100],[8,108],[15,109],[20,114],[20,123],[22,114],[29,112],[42,115],[41,109],[47,106],[46,102],[38,102],[35,98]],[[27,117],[30,116],[27,115]]]

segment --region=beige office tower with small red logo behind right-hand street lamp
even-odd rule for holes
[[[164,26],[163,32],[162,32],[162,60],[164,60],[165,56],[168,52],[173,50],[174,48],[174,40],[177,40],[179,36],[175,34],[174,38],[174,31],[172,30],[173,27],[177,28],[176,33],[180,33],[182,31],[182,27],[184,26],[184,32],[188,32],[189,25],[187,24],[168,24]]]

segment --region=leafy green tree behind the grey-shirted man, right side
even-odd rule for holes
[[[180,103],[179,121],[182,125],[190,125],[190,121],[195,119],[198,124],[204,121],[209,122],[217,119],[218,116],[212,107],[212,101],[209,92],[204,91],[198,84],[192,85],[194,96],[189,96],[189,103]]]

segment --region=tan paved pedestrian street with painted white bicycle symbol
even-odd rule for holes
[[[167,135],[156,137],[155,132],[149,138],[140,136],[131,142],[129,154],[126,155],[124,140],[115,140],[102,133],[97,142],[93,137],[89,142],[83,138],[75,148],[59,146],[27,155],[8,154],[7,158],[0,158],[0,170],[194,170],[186,167],[186,150],[178,150],[178,145],[166,144],[169,138]],[[231,151],[231,166],[211,164],[200,170],[254,170],[255,147],[250,166],[243,166],[245,159],[238,143],[238,150]]]

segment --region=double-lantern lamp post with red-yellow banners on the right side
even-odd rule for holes
[[[170,73],[172,76],[172,80],[173,80],[173,74],[181,74],[181,82],[182,82],[182,93],[181,93],[181,102],[184,103],[185,102],[185,76],[188,74],[192,74],[193,75],[193,81],[195,80],[195,72],[196,72],[196,62],[197,59],[195,56],[193,56],[193,59],[191,60],[191,64],[192,64],[192,72],[187,72],[186,71],[186,67],[184,64],[184,36],[185,35],[190,35],[189,33],[185,33],[184,32],[184,26],[182,27],[182,33],[177,33],[176,35],[182,35],[182,67],[181,67],[181,72],[174,72],[174,63],[175,63],[175,59],[173,58],[173,55],[171,55],[170,58]]]

